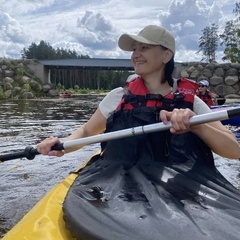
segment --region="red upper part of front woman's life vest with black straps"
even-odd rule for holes
[[[119,103],[117,110],[131,110],[136,107],[162,107],[166,102],[172,102],[173,104],[173,102],[180,100],[191,106],[194,102],[197,87],[198,85],[195,82],[181,78],[177,80],[175,92],[162,96],[161,94],[151,94],[145,86],[143,79],[138,77],[127,84],[125,95]]]

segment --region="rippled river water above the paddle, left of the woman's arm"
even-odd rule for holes
[[[1,102],[1,150],[22,148],[19,143],[36,144],[39,139],[54,135],[66,137],[73,128],[86,122],[102,97],[47,99]],[[2,149],[3,148],[3,149]]]

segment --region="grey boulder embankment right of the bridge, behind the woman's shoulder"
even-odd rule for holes
[[[178,74],[200,81],[206,79],[213,92],[225,98],[240,98],[240,63],[183,63]]]

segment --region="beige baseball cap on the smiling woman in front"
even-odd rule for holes
[[[175,54],[175,39],[165,28],[148,25],[138,35],[123,34],[118,40],[118,46],[125,51],[133,50],[133,43],[137,41],[151,45],[161,45]]]

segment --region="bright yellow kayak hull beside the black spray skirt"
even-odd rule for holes
[[[84,168],[87,162],[83,163],[80,169]],[[65,228],[62,203],[76,176],[76,173],[71,173],[54,187],[2,240],[75,239]]]

